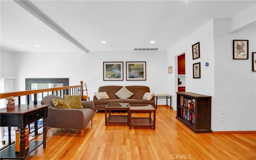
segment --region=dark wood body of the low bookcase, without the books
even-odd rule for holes
[[[189,109],[180,105],[180,96],[184,98],[195,100],[195,109]],[[190,114],[195,114],[195,123],[183,118],[181,116],[181,110],[185,109]],[[195,133],[211,133],[211,111],[212,111],[212,97],[202,94],[196,94],[191,92],[177,92],[177,115],[181,123],[186,125]]]

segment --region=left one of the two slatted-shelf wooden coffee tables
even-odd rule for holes
[[[108,117],[107,117],[108,110]],[[105,107],[105,126],[109,124],[127,124],[129,126],[128,115],[111,115],[111,110],[127,110],[129,115],[129,103],[108,103]]]

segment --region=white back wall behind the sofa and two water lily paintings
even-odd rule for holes
[[[25,78],[69,78],[69,85],[86,82],[89,96],[104,85],[145,85],[155,94],[167,92],[166,51],[17,52],[14,53],[15,91],[25,90]],[[103,81],[104,61],[124,61],[124,81]],[[146,81],[126,81],[125,62],[146,61]],[[23,98],[25,102],[25,98]],[[163,99],[158,104],[165,104]]]

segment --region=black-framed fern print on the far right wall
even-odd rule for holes
[[[233,60],[248,60],[249,40],[233,40]]]

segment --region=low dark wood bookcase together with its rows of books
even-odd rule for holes
[[[190,106],[191,104],[193,104],[194,106]],[[211,110],[211,96],[191,92],[177,92],[176,119],[186,125],[193,132],[212,132]]]

